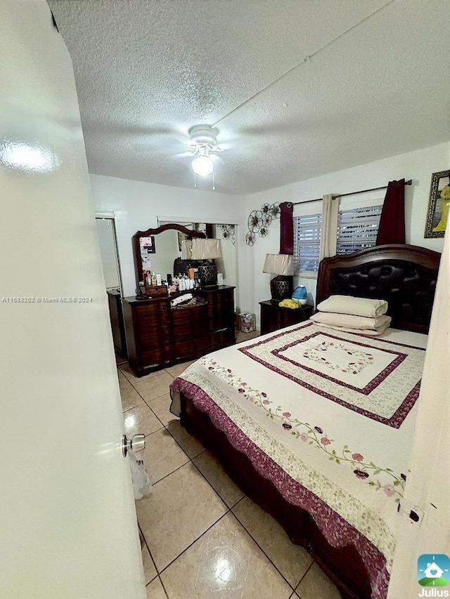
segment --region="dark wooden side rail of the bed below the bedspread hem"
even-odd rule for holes
[[[187,386],[191,386],[191,383],[187,383]],[[342,598],[370,599],[385,596],[387,573],[380,572],[380,579],[383,579],[383,582],[378,584],[378,591],[372,594],[371,577],[356,547],[352,544],[341,547],[331,546],[314,518],[306,510],[285,499],[274,482],[269,480],[270,477],[266,478],[258,472],[249,457],[233,446],[236,443],[232,445],[226,433],[214,426],[206,411],[195,407],[193,400],[187,396],[193,394],[186,393],[186,388],[183,390],[179,387],[186,387],[186,381],[176,379],[172,383],[172,390],[181,392],[182,426],[188,430],[188,433],[198,437],[203,445],[217,456],[226,473],[252,501],[280,523],[293,543],[304,546],[309,551],[339,588]],[[207,397],[200,389],[198,392]],[[195,399],[198,400],[198,393],[195,395]],[[198,404],[198,401],[195,402]],[[267,468],[270,467],[268,458]],[[323,530],[323,525],[321,528]]]

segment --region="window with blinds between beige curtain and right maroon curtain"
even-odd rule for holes
[[[378,233],[383,205],[340,210],[336,254],[352,254],[373,247]]]

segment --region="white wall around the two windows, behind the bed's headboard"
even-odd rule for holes
[[[450,143],[443,143],[423,150],[400,154],[391,158],[377,160],[370,164],[355,166],[336,173],[307,179],[285,185],[273,190],[248,195],[243,206],[246,216],[252,210],[260,209],[265,202],[304,202],[315,199],[326,193],[347,193],[371,187],[387,185],[389,180],[405,178],[412,179],[413,185],[405,187],[405,219],[406,243],[428,247],[442,251],[443,239],[424,239],[425,220],[430,195],[432,173],[450,168]],[[243,233],[241,233],[243,235]],[[279,251],[280,221],[275,220],[269,226],[269,235],[263,239],[257,238],[255,245],[248,251],[241,252],[241,258],[252,255],[253,284],[248,282],[246,289],[241,290],[240,298],[243,307],[249,312],[255,312],[259,322],[259,301],[270,298],[269,282],[271,275],[262,273],[264,258],[267,253],[277,254]],[[314,279],[302,279],[309,291],[315,296]],[[250,310],[250,308],[252,308]]]

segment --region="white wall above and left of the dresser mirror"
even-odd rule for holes
[[[239,230],[245,230],[240,220],[240,215],[245,216],[241,207],[242,198],[236,195],[101,175],[91,175],[91,187],[95,211],[112,212],[115,216],[124,296],[133,296],[136,292],[131,237],[138,230],[156,228],[158,216],[163,216],[164,220],[187,218],[191,223],[240,224]],[[243,244],[245,245],[245,241]],[[236,245],[238,246],[237,239]],[[245,268],[240,270],[243,270],[243,277],[246,277]],[[238,283],[238,289],[239,287]],[[248,293],[246,281],[242,287]]]

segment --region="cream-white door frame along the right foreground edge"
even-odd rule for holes
[[[450,554],[449,273],[450,239],[447,234],[418,399],[413,449],[399,513],[388,599],[415,598],[423,588],[428,588],[417,582],[419,555]],[[419,515],[418,522],[409,518],[411,510]],[[449,579],[450,572],[445,572],[444,576]],[[446,586],[437,588],[449,590]]]

